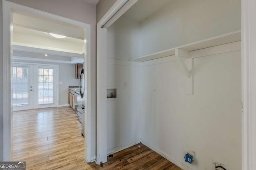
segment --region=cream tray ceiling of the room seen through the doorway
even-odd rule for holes
[[[58,39],[49,33],[67,37]],[[80,58],[83,59],[83,54],[86,53],[84,37],[82,27],[31,14],[13,13],[13,44],[15,46],[13,55],[16,60],[19,57],[20,59],[26,57],[30,61],[41,58],[48,61],[60,61],[60,63],[83,62]],[[44,56],[45,54],[48,56]]]

